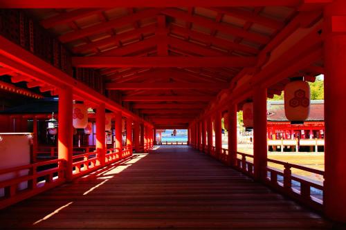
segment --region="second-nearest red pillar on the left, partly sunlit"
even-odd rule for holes
[[[104,104],[100,104],[96,108],[96,150],[98,151],[98,159],[100,165],[104,166],[106,156],[106,131],[105,131],[105,108]]]

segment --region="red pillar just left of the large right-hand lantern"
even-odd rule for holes
[[[256,180],[266,179],[266,88],[253,94],[253,163]]]

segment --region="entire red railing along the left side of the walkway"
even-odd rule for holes
[[[109,148],[105,155],[105,165],[129,157],[131,153],[129,146],[122,149],[121,155],[117,149]],[[73,155],[72,159],[73,178],[102,167],[98,151]],[[0,209],[64,183],[65,170],[64,160],[48,160],[0,170],[0,177],[8,178],[0,182]]]

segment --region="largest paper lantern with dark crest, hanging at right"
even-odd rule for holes
[[[290,121],[302,122],[309,117],[310,86],[307,82],[294,81],[284,88],[284,113]]]

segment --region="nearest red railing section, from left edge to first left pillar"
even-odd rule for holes
[[[0,209],[62,184],[64,160],[49,160],[0,170]]]

